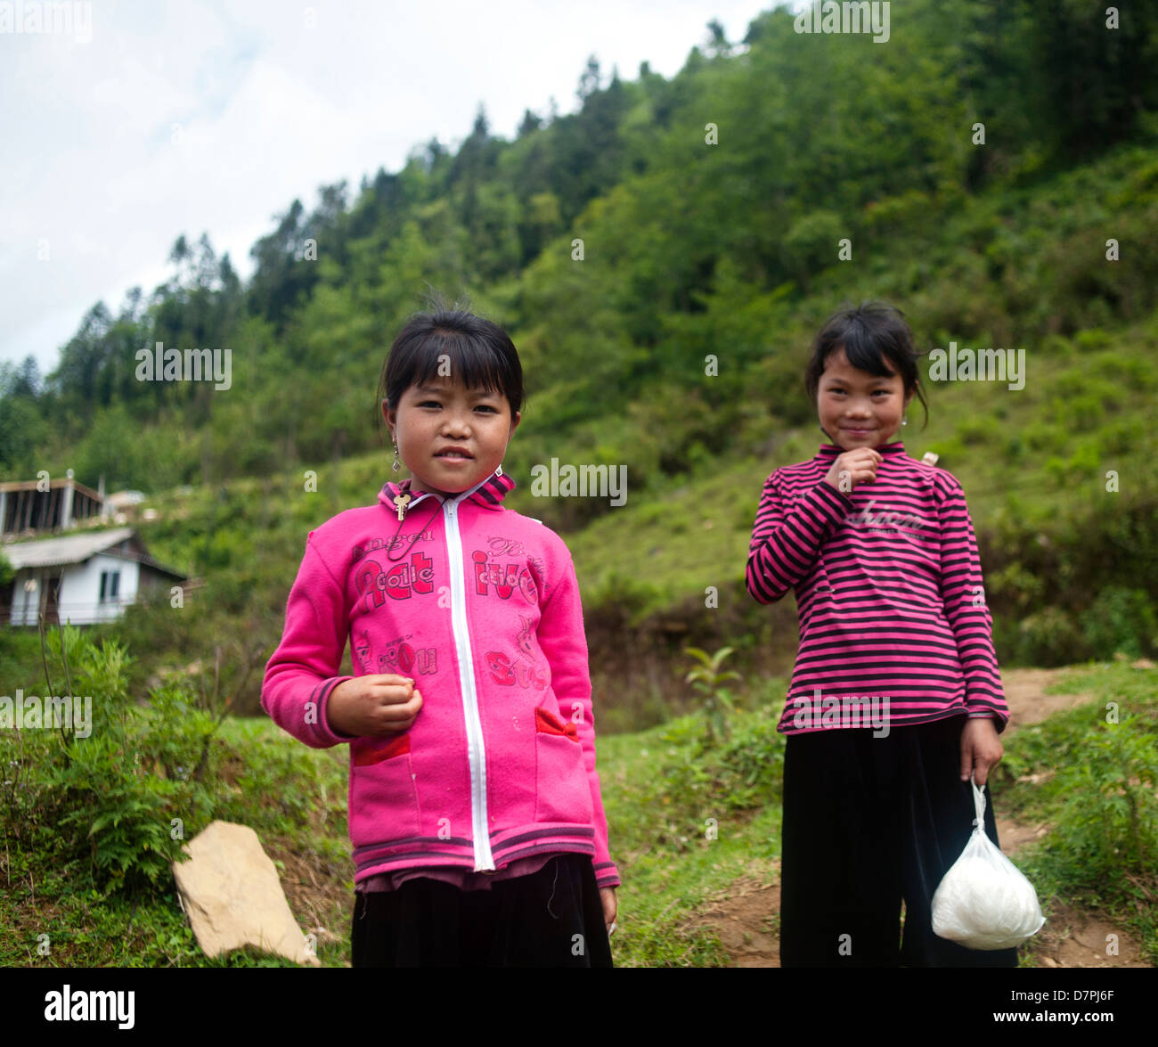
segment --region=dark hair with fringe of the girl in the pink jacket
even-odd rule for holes
[[[511,417],[522,407],[522,364],[506,331],[464,309],[447,308],[440,299],[428,313],[410,316],[394,339],[378,382],[378,403],[391,409],[415,385],[439,373],[445,353],[450,374],[468,389],[499,393],[511,404]],[[379,418],[381,419],[381,411]]]

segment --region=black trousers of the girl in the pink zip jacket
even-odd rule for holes
[[[586,855],[560,855],[490,891],[420,877],[356,893],[350,945],[353,967],[611,966]]]

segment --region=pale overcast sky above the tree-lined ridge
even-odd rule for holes
[[[168,278],[182,233],[248,279],[294,197],[313,210],[346,178],[352,202],[413,146],[456,146],[479,103],[508,139],[552,96],[571,112],[589,54],[672,76],[711,19],[736,42],[774,6],[91,0],[44,32],[46,5],[0,2],[0,359],[47,374],[96,301],[117,313]]]

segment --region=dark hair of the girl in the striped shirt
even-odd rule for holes
[[[812,356],[804,373],[804,386],[814,404],[824,361],[829,353],[842,346],[849,364],[858,371],[881,378],[900,374],[904,395],[916,390],[917,400],[925,410],[922,429],[929,424],[929,404],[917,381],[917,360],[922,353],[900,309],[885,302],[865,302],[857,308],[840,309],[828,317],[813,339]],[[885,363],[886,357],[892,367]]]

